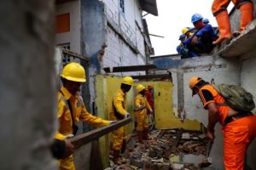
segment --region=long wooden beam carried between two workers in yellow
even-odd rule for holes
[[[123,127],[125,126],[125,124],[128,124],[132,122],[131,117],[118,121],[116,123],[113,123],[107,127],[99,127],[96,128],[95,130],[92,130],[88,133],[83,133],[80,134],[78,136],[75,136],[71,139],[67,139],[69,142],[71,142],[75,148],[79,148],[80,146],[90,143],[91,141],[94,141],[96,139],[99,139],[100,137],[102,137],[105,134],[108,134],[110,132],[112,132],[113,130],[118,129],[119,127]]]

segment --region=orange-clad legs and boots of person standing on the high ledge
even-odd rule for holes
[[[227,11],[231,0],[214,0],[212,3],[212,14],[216,17],[218,23],[218,30],[220,35],[213,44],[218,44],[224,39],[231,39],[232,34],[230,30],[230,18]],[[253,2],[250,0],[232,0],[236,8],[241,11],[240,31],[234,33],[241,33],[245,30],[247,24],[253,20]]]

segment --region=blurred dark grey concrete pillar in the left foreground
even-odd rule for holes
[[[0,169],[55,169],[54,0],[0,1]]]

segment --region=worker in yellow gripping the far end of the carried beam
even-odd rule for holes
[[[131,77],[124,77],[120,89],[113,94],[113,106],[109,114],[110,120],[119,121],[130,116],[130,113],[125,110],[125,96],[126,93],[130,91],[132,84],[133,79]],[[113,131],[113,161],[118,161],[120,151],[124,152],[125,148],[125,127],[119,127],[117,130]]]

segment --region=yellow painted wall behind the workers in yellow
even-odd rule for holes
[[[96,112],[97,116],[108,119],[112,107],[112,97],[120,88],[122,77],[96,76]],[[183,128],[186,130],[201,131],[201,123],[185,119],[181,122],[172,107],[172,82],[137,82],[126,94],[126,108],[134,119],[133,107],[136,96],[136,86],[142,83],[144,86],[154,86],[154,114],[155,127],[157,129]],[[125,126],[126,135],[134,129],[134,123]],[[109,145],[112,139],[111,133],[102,137],[100,149],[103,167],[108,167]]]

